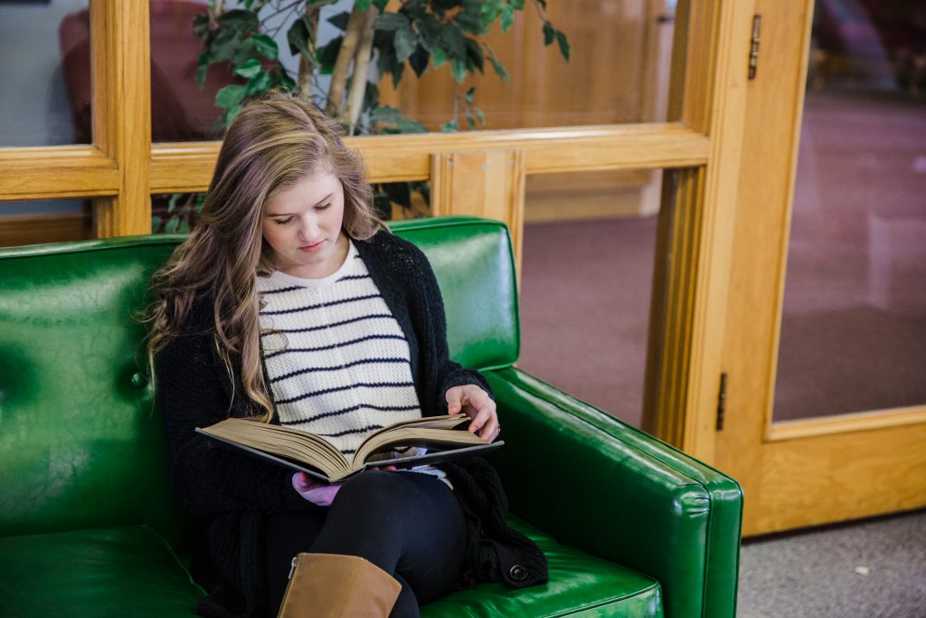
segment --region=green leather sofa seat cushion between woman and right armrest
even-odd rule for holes
[[[460,616],[662,616],[662,589],[644,574],[602,561],[511,518],[544,550],[550,581],[512,590],[483,584],[421,608],[422,618]]]

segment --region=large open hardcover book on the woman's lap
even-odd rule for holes
[[[411,468],[482,455],[505,444],[489,444],[478,435],[456,429],[467,421],[469,417],[459,413],[391,424],[369,435],[357,448],[352,460],[345,458],[340,450],[319,435],[280,425],[226,419],[205,429],[196,427],[196,431],[261,459],[337,483],[371,466]],[[393,453],[382,457],[383,451],[407,447],[424,447],[428,451],[405,456]]]

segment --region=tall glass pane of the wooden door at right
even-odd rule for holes
[[[817,10],[775,421],[926,403],[926,10]]]

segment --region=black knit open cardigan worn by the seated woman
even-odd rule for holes
[[[412,375],[424,413],[445,414],[444,393],[478,384],[479,372],[450,360],[444,303],[431,265],[418,247],[381,231],[355,241],[370,276],[406,335]],[[194,302],[180,336],[157,356],[157,397],[165,418],[173,491],[204,526],[194,575],[209,591],[203,615],[258,615],[264,605],[263,519],[269,512],[316,509],[291,485],[292,472],[254,460],[194,432],[255,413],[219,359],[208,295]],[[481,581],[532,586],[546,581],[543,553],[505,522],[507,500],[497,473],[473,458],[442,466],[467,517],[468,545],[461,587]],[[519,568],[518,568],[519,567]]]

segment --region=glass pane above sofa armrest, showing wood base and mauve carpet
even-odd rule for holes
[[[661,172],[529,176],[519,368],[640,426]]]

